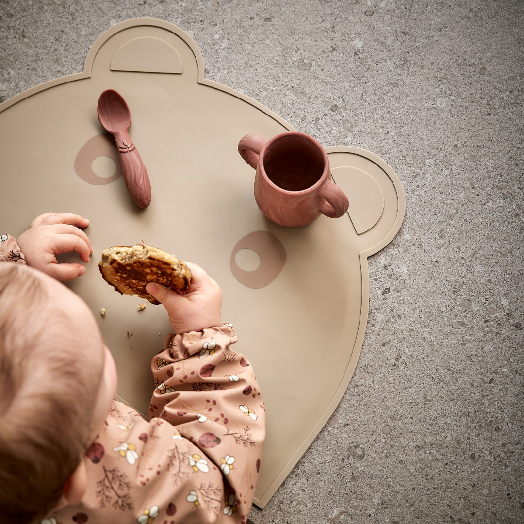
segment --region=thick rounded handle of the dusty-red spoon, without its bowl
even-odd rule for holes
[[[151,202],[151,184],[144,162],[127,132],[115,133],[114,137],[127,190],[136,205],[147,208]]]

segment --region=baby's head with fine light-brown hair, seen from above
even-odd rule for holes
[[[35,269],[0,264],[3,522],[31,522],[64,496],[79,501],[81,459],[115,391],[114,361],[88,306]]]

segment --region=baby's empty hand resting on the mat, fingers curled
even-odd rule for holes
[[[93,253],[88,236],[79,229],[88,219],[72,213],[45,213],[37,216],[17,239],[27,265],[57,280],[72,280],[85,273],[82,264],[59,264],[55,255],[75,251],[85,263]],[[75,227],[78,226],[78,227]]]

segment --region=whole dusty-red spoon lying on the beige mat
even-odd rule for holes
[[[151,184],[144,162],[127,134],[131,124],[129,106],[120,93],[107,89],[100,95],[97,113],[102,127],[115,137],[124,181],[131,198],[140,208],[147,208],[151,202]]]

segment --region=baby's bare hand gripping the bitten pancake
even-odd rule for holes
[[[161,284],[150,282],[146,289],[163,304],[177,334],[202,331],[220,325],[222,291],[219,285],[196,264],[184,262],[191,270],[191,283],[183,295]]]

